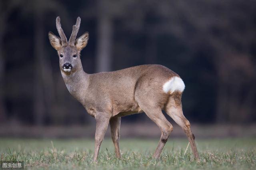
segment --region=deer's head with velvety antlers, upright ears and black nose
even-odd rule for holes
[[[89,33],[85,32],[82,36],[76,39],[80,27],[80,17],[76,20],[76,25],[73,26],[72,34],[67,40],[60,24],[60,17],[56,18],[56,27],[60,38],[52,32],[48,33],[50,43],[57,50],[60,59],[60,70],[66,75],[70,75],[82,69],[80,60],[80,51],[86,47],[89,40]]]

